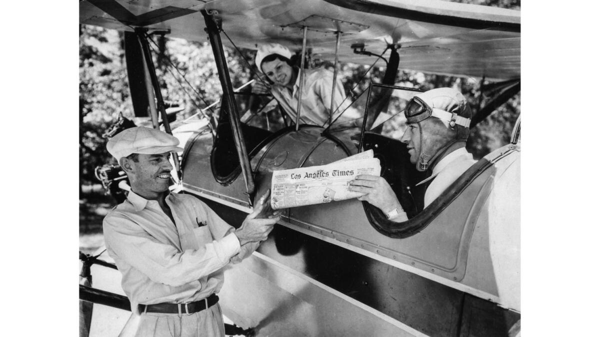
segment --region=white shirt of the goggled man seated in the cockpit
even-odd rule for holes
[[[475,163],[477,163],[477,161],[473,160],[473,155],[467,152],[466,148],[456,149],[446,155],[446,157],[442,158],[439,163],[433,167],[431,176],[416,184],[416,186],[419,186],[422,183],[433,179],[425,190],[424,206],[429,206],[433,200],[436,200],[448,186],[452,185],[458,177],[463,175],[463,173],[469,170],[469,167],[473,166]],[[408,217],[406,216],[406,212],[401,212],[390,220],[402,222],[408,220]]]

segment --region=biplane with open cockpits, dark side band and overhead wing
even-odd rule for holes
[[[409,213],[408,221],[391,222],[356,199],[287,209],[269,239],[225,272],[220,303],[241,327],[235,333],[520,334],[520,122],[509,144],[427,207],[416,186],[422,173],[385,131],[420,91],[396,86],[398,69],[487,79],[485,89],[496,95],[472,128],[520,91],[519,11],[434,0],[85,0],[79,6],[81,24],[125,32],[136,116],[149,110],[154,127],[162,119],[173,134],[148,37],[208,38],[223,89],[218,120],[183,127],[176,170],[181,192],[230,224],[239,226],[251,212],[274,170],[328,164],[367,149]],[[351,109],[361,112],[355,125],[362,127],[335,128],[330,118],[326,125],[296,120],[274,129],[264,113],[269,104],[252,114],[266,123],[242,122],[241,107],[251,105],[252,95],[235,92],[223,45],[256,50],[263,43],[283,44],[302,61],[307,53],[332,61],[336,72],[340,62],[385,64],[382,80],[352,98]],[[134,318],[119,272],[106,253],[82,260],[88,282],[80,285],[80,299],[100,304],[86,311],[85,334],[124,329],[125,335]],[[100,314],[108,309],[114,311]]]

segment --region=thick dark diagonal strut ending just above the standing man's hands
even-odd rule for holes
[[[246,143],[244,142],[244,135],[242,135],[242,128],[239,122],[238,106],[235,103],[235,97],[233,96],[233,87],[229,77],[229,68],[227,68],[227,60],[225,59],[223,44],[221,43],[221,35],[219,34],[220,21],[213,15],[216,13],[216,11],[211,10],[209,13],[206,10],[202,10],[201,12],[204,16],[206,32],[208,32],[208,39],[211,41],[212,53],[215,56],[215,64],[217,65],[219,80],[221,82],[221,88],[223,89],[223,103],[226,109],[223,109],[222,107],[221,113],[227,113],[229,116],[229,122],[231,124],[233,133],[233,142],[235,143],[235,149],[238,152],[239,166],[242,169],[244,182],[246,183],[248,201],[250,204],[253,204],[254,179],[252,177],[252,170],[250,168],[250,160],[248,159]]]

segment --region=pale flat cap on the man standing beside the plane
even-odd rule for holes
[[[109,139],[106,149],[117,160],[130,154],[163,154],[181,152],[179,140],[160,130],[134,127],[123,130]]]

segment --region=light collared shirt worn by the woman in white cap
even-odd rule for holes
[[[332,71],[324,68],[304,70],[304,86],[302,87],[302,102],[300,104],[300,124],[323,126],[329,121],[333,83],[334,73]],[[296,77],[292,93],[285,86],[273,85],[271,87],[271,94],[294,122],[296,121],[296,109],[298,108],[299,88],[300,73]],[[352,103],[350,100],[344,101],[345,98],[344,86],[338,78],[335,84],[335,115],[332,117],[332,121]],[[349,111],[338,119],[338,123],[359,117],[360,115],[356,115],[356,112]]]

